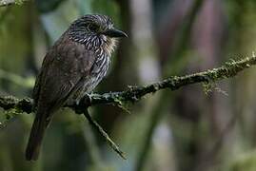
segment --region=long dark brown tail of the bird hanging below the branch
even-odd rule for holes
[[[36,161],[39,155],[42,140],[49,124],[49,116],[46,111],[40,110],[36,113],[31,132],[30,139],[26,149],[26,160]]]

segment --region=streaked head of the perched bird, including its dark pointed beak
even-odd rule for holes
[[[69,27],[69,36],[75,41],[86,45],[89,49],[104,47],[111,51],[115,39],[128,35],[114,28],[107,15],[89,14],[75,20]]]

